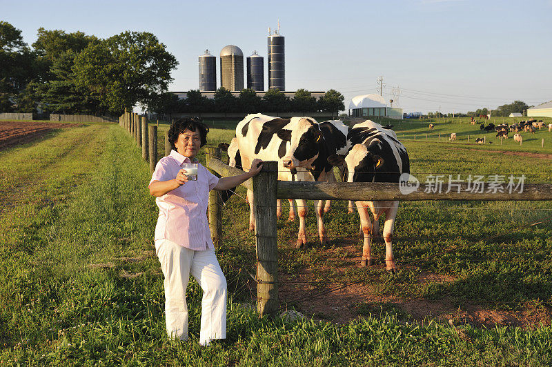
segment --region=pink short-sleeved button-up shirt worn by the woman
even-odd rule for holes
[[[170,155],[157,162],[150,184],[175,179],[183,163],[192,162],[176,150],[171,150]],[[155,203],[159,207],[159,217],[155,240],[168,239],[190,250],[213,248],[206,212],[209,190],[213,190],[218,183],[218,177],[198,163],[197,181],[188,181],[157,197]]]

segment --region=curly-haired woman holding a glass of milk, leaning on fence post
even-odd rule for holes
[[[157,163],[150,194],[157,197],[159,218],[155,227],[155,252],[165,277],[165,317],[169,337],[188,339],[186,287],[190,274],[203,290],[199,343],[226,337],[226,278],[217,261],[207,221],[209,190],[235,188],[261,170],[255,159],[242,175],[217,178],[198,163],[197,181],[186,176],[184,163],[197,163],[209,128],[197,119],[172,123],[168,139],[172,150]]]

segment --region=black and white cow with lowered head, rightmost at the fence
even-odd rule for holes
[[[347,155],[333,155],[328,161],[333,165],[345,164],[348,182],[399,182],[403,173],[410,172],[406,148],[397,140],[393,130],[384,129],[379,123],[364,121],[351,129],[348,139],[354,143]],[[361,264],[372,265],[371,240],[379,232],[379,219],[385,213],[383,238],[386,246],[386,269],[395,271],[393,257],[393,230],[399,201],[356,201],[360,224],[364,235]],[[373,222],[368,215],[373,215]]]

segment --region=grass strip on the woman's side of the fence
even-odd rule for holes
[[[61,142],[75,141],[68,150]],[[230,300],[228,340],[201,349],[200,290],[188,289],[190,341],[166,339],[153,254],[157,208],[139,149],[119,126],[89,126],[0,155],[50,161],[0,221],[0,360],[37,365],[548,364],[549,327],[479,330],[366,317],[348,325],[258,319]],[[21,163],[22,164],[22,163]],[[32,177],[34,167],[13,175]],[[244,208],[242,208],[244,209]],[[246,210],[242,210],[246,220]],[[227,215],[227,214],[225,214]],[[234,218],[234,221],[241,221]],[[228,228],[227,228],[228,230]],[[243,232],[242,232],[243,233]],[[235,238],[235,235],[227,234]],[[221,263],[239,272],[232,246]],[[233,290],[230,288],[230,292]]]

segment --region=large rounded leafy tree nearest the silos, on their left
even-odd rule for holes
[[[150,32],[123,32],[90,43],[75,58],[77,85],[101,97],[102,107],[120,113],[137,103],[149,105],[172,81],[178,65]]]

